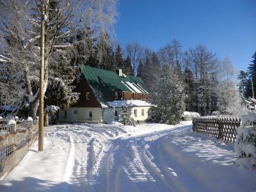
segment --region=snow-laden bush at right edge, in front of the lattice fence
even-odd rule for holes
[[[256,111],[241,115],[241,126],[237,128],[236,164],[256,169]]]

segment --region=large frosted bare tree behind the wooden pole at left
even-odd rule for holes
[[[4,37],[1,38],[4,52],[0,59],[8,68],[8,81],[2,81],[6,89],[1,90],[0,97],[12,106],[27,102],[29,115],[35,117],[38,108],[40,6],[45,7],[46,19],[45,92],[49,81],[56,77],[63,79],[63,66],[70,68],[70,73],[74,72],[69,66],[70,53],[75,45],[86,41],[86,35],[73,42],[68,38],[78,29],[86,30],[88,26],[95,34],[102,28],[110,31],[115,23],[116,0],[51,0],[49,4],[43,0],[1,0],[0,3],[0,31]]]

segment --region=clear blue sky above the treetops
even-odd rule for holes
[[[184,50],[204,45],[246,70],[256,51],[256,0],[120,0],[118,42],[157,51],[174,38]]]

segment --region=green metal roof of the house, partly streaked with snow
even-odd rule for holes
[[[140,77],[126,74],[118,76],[116,72],[110,70],[84,65],[81,65],[80,68],[100,102],[108,101],[109,94],[113,92],[149,92]]]

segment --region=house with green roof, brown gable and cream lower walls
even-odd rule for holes
[[[136,76],[128,76],[121,69],[116,72],[81,66],[81,76],[76,79],[75,92],[79,100],[67,110],[60,110],[61,122],[110,122],[118,121],[124,107],[131,111],[131,118],[143,121],[148,115],[148,88]]]

